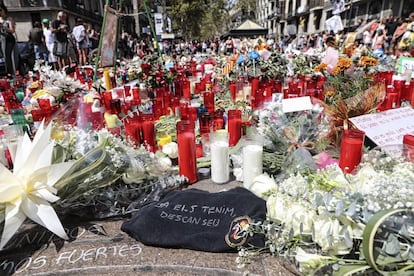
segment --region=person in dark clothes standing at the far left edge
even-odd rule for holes
[[[16,23],[7,13],[7,7],[0,3],[0,43],[5,58],[5,73],[13,77],[19,65],[19,51],[15,37]]]

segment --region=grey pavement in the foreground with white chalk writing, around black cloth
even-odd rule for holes
[[[189,188],[211,192],[239,186],[200,181]],[[260,256],[245,268],[237,253],[150,247],[120,230],[123,220],[67,226],[69,242],[44,228],[22,231],[9,252],[0,252],[0,275],[299,275],[289,262]]]

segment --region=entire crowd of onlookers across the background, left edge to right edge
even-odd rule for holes
[[[36,61],[62,70],[68,65],[88,64],[88,54],[98,47],[99,32],[92,24],[76,19],[73,28],[68,26],[67,14],[59,11],[56,18],[44,18],[42,22],[33,22],[28,33],[25,49],[16,46],[15,22],[7,15],[7,7],[0,4],[0,42],[4,62],[0,62],[2,75],[14,76],[16,71],[31,69]],[[118,59],[143,57],[158,51],[168,56],[192,55],[196,53],[231,55],[244,48],[259,47],[278,49],[282,52],[306,52],[309,50],[326,50],[327,39],[332,45],[341,46],[344,53],[370,50],[379,56],[393,55],[399,57],[414,56],[414,12],[408,18],[394,16],[360,21],[350,31],[323,31],[316,34],[284,35],[280,38],[214,38],[206,40],[185,41],[163,40],[155,42],[150,36],[140,38],[136,34],[122,33],[117,45]],[[333,38],[333,40],[332,40]],[[24,67],[25,65],[26,67]]]

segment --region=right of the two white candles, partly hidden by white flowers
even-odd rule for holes
[[[256,176],[263,173],[263,146],[243,147],[243,186],[249,188]]]

